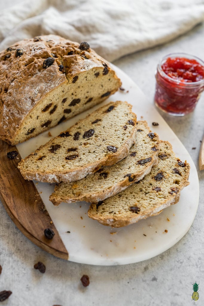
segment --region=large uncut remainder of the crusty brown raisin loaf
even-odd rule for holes
[[[57,35],[0,53],[0,138],[17,144],[102,102],[121,86],[88,43]]]

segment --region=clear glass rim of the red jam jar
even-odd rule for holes
[[[183,55],[183,56],[181,56]],[[174,83],[174,84],[177,84],[177,85],[186,85],[187,87],[196,87],[198,85],[204,85],[204,78],[202,80],[199,80],[199,81],[196,81],[196,82],[181,82],[179,80],[175,80],[173,78],[171,78],[170,76],[168,76],[164,70],[161,68],[161,65],[163,64],[163,62],[169,58],[169,57],[186,57],[189,59],[195,59],[195,60],[198,60],[198,63],[201,64],[204,68],[204,61],[202,61],[202,59],[198,58],[197,56],[195,55],[192,55],[192,54],[189,54],[189,53],[185,53],[185,52],[174,52],[174,53],[169,53],[167,55],[165,55],[163,58],[160,59],[158,65],[157,65],[157,70],[158,72],[160,73],[161,76],[165,77],[167,80],[169,80],[170,82]]]

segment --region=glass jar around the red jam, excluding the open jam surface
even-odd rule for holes
[[[193,59],[203,67],[204,62],[190,54],[172,53],[161,59],[156,72],[155,105],[164,112],[174,116],[184,116],[191,113],[204,90],[204,78],[198,81],[184,81],[168,76],[162,65],[168,58]]]

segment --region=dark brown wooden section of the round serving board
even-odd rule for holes
[[[33,243],[54,256],[68,259],[69,254],[32,181],[24,180],[17,169],[20,154],[9,159],[7,153],[18,151],[0,140],[0,199],[15,225]],[[51,228],[55,235],[49,240],[44,230]]]

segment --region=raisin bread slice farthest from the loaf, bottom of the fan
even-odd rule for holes
[[[190,165],[175,157],[169,142],[161,142],[158,165],[150,174],[124,191],[92,203],[88,216],[103,225],[122,227],[160,213],[179,201],[180,191],[189,185]]]

